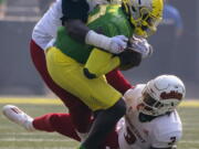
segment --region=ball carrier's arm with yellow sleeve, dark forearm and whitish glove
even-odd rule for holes
[[[108,25],[114,29],[114,25]],[[109,29],[111,30],[111,29]],[[109,31],[107,30],[107,31]],[[96,78],[107,74],[116,67],[126,71],[138,66],[143,57],[151,54],[153,47],[145,39],[130,38],[127,47],[119,54],[111,54],[94,49],[84,67],[84,74],[87,78]]]

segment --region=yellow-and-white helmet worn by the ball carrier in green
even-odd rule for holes
[[[163,19],[163,0],[122,0],[135,34],[147,38],[157,30]]]

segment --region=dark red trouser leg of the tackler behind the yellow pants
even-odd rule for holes
[[[75,128],[80,132],[87,132],[87,127],[90,126],[90,124],[87,123],[90,121],[91,117],[91,110],[88,109],[88,107],[85,106],[82,102],[80,102],[75,96],[71,95],[52,81],[46,70],[44,51],[39,45],[36,45],[36,43],[33,40],[30,43],[30,50],[33,64],[40,73],[43,81],[45,82],[45,84],[69,107],[71,118]],[[80,117],[80,115],[82,116]]]

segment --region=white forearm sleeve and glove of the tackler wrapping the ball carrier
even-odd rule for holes
[[[118,54],[127,46],[128,39],[124,35],[113,38],[98,34],[94,31],[88,31],[85,38],[85,43],[108,51],[109,53]]]

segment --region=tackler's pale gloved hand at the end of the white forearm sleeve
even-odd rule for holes
[[[111,38],[109,52],[114,54],[122,53],[127,46],[128,39],[125,35]]]

